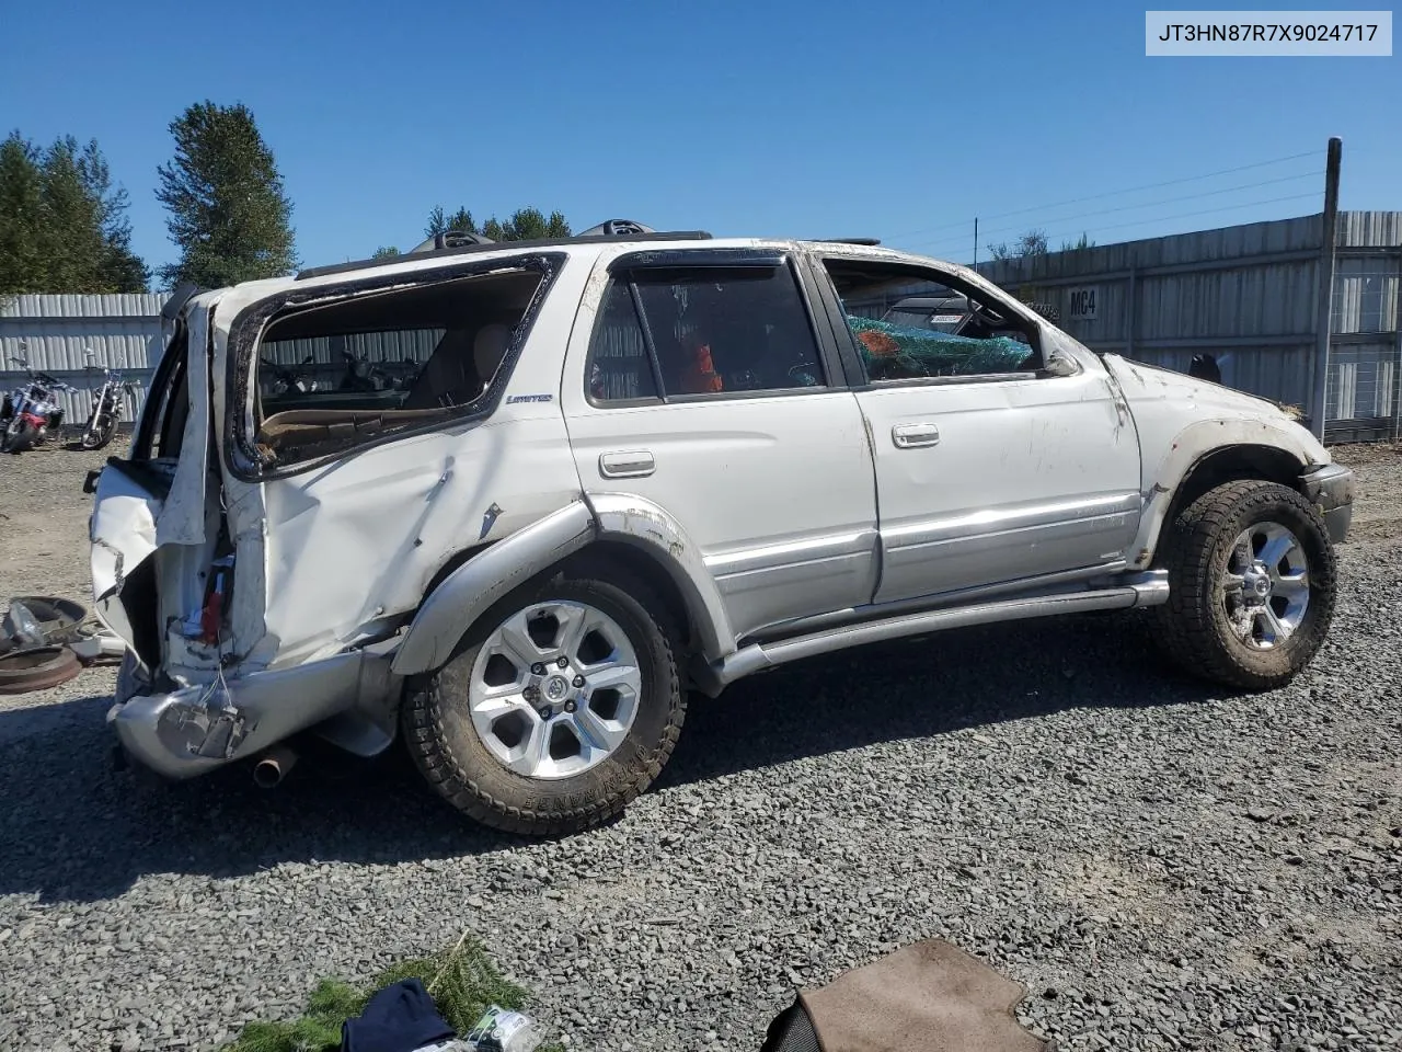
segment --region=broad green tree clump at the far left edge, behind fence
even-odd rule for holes
[[[95,140],[0,143],[0,292],[144,292],[128,198]]]

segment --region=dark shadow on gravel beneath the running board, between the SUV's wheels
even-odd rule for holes
[[[1140,616],[959,628],[795,662],[697,699],[660,785],[1064,708],[1193,704]]]

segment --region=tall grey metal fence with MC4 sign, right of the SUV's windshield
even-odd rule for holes
[[[1318,345],[1322,216],[1096,245],[979,271],[1095,351],[1186,372],[1210,353],[1223,383],[1308,412]],[[1330,440],[1402,425],[1402,213],[1342,212],[1326,389]]]

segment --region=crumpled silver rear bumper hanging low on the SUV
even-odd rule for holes
[[[401,682],[387,654],[366,648],[164,694],[118,696],[107,721],[135,760],[168,778],[192,778],[383,703]]]

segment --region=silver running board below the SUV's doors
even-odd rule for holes
[[[743,679],[754,672],[787,665],[791,661],[813,658],[819,654],[861,647],[868,642],[899,640],[906,635],[924,635],[945,628],[963,628],[970,624],[994,624],[1015,621],[1023,617],[1053,617],[1056,614],[1087,613],[1089,610],[1127,610],[1134,606],[1159,606],[1168,602],[1168,571],[1152,569],[1126,578],[1123,585],[1102,588],[1092,592],[1060,592],[1057,595],[1026,599],[1004,599],[995,603],[977,603],[944,610],[882,617],[873,621],[827,628],[809,635],[774,642],[754,642],[709,666],[708,680],[698,685],[707,693],[719,693],[728,683]],[[714,690],[708,689],[714,687]]]

